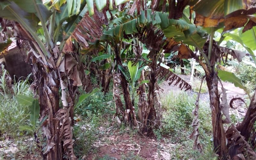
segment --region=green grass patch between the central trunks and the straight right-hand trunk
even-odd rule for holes
[[[191,123],[193,121],[192,110],[195,108],[197,94],[186,92],[169,92],[162,98],[164,109],[163,127],[156,131],[162,136],[168,136],[172,142],[179,144],[174,148],[174,155],[177,159],[216,159],[212,148],[212,123],[211,109],[206,102],[199,102],[199,133],[200,143],[203,153],[198,153],[192,148],[194,140],[189,139],[193,131]],[[159,136],[159,135],[157,135]],[[185,149],[180,152],[179,146]]]

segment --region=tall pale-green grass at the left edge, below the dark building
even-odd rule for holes
[[[1,85],[5,84],[2,75]],[[29,79],[14,82],[11,92],[2,92],[0,96],[0,131],[6,133],[8,136],[15,137],[19,135],[19,125],[28,123],[30,109],[28,106],[20,105],[16,100],[17,94],[33,96],[32,91],[29,90]],[[5,86],[4,86],[5,87]],[[1,86],[2,88],[2,86]]]

